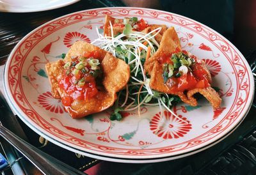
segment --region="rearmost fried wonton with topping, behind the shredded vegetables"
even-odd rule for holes
[[[151,31],[154,31],[155,29],[161,27],[161,30],[159,33],[154,36],[156,41],[159,43],[161,41],[161,38],[163,36],[164,31],[166,31],[167,27],[165,25],[157,25],[157,24],[147,24],[147,22],[143,19],[138,20],[137,17],[125,17],[124,19],[115,19],[109,15],[106,15],[105,18],[105,25],[104,25],[104,35],[106,36],[116,36],[117,34],[123,33],[125,29],[125,25],[130,24],[132,27],[132,30],[134,31],[140,31],[141,33],[150,33]],[[152,34],[155,34],[153,32]]]

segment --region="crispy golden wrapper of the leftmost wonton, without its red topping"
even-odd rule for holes
[[[97,95],[89,100],[74,100],[70,107],[65,107],[72,118],[83,118],[89,114],[108,109],[116,100],[116,92],[120,91],[127,84],[130,78],[130,68],[122,61],[117,59],[109,52],[95,47],[90,43],[76,42],[68,51],[64,60],[47,63],[46,71],[52,88],[52,96],[61,98],[67,94],[58,86],[58,80],[63,76],[63,65],[70,61],[71,56],[81,56],[84,52],[99,50],[101,68],[103,72],[102,85],[104,88],[98,91]]]

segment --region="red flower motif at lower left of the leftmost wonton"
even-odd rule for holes
[[[62,114],[64,112],[63,107],[61,105],[61,100],[56,100],[53,98],[52,94],[47,91],[42,95],[39,95],[37,101],[44,107],[46,110],[50,110],[56,114]]]

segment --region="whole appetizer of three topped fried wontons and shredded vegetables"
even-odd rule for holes
[[[204,61],[181,49],[174,27],[107,15],[104,34],[97,34],[92,43],[76,42],[65,59],[46,65],[52,95],[61,98],[72,118],[108,109],[114,102],[112,120],[122,119],[128,110],[138,109],[140,116],[141,105],[172,112],[172,105],[181,101],[196,106],[196,93],[214,109],[220,107]]]

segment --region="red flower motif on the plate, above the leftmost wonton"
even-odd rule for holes
[[[75,32],[68,32],[65,37],[64,37],[64,44],[67,46],[67,47],[71,47],[71,45],[77,41],[84,41],[84,42],[88,42],[90,43],[91,40],[84,34],[81,34],[77,31]]]

